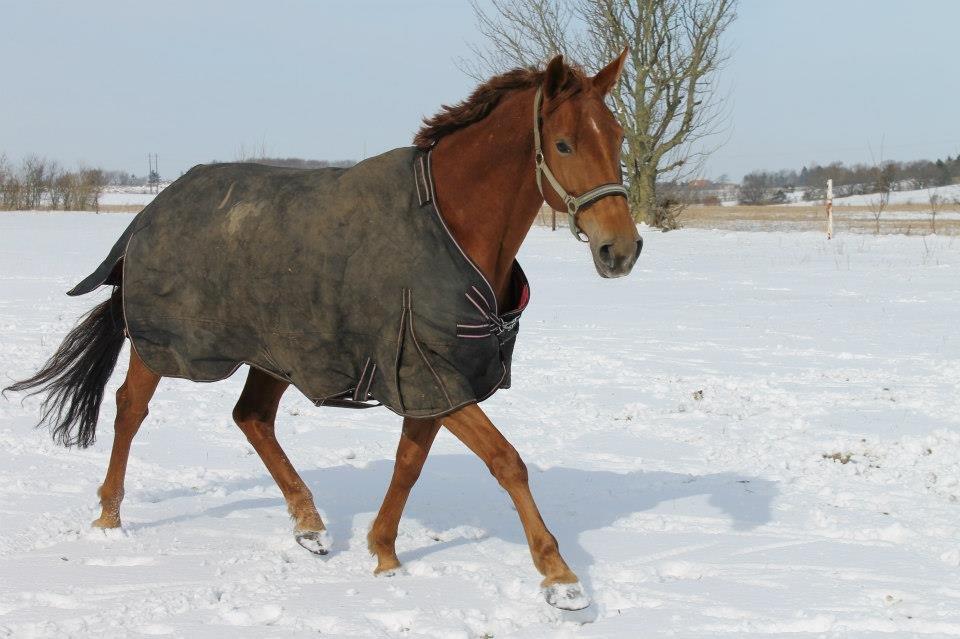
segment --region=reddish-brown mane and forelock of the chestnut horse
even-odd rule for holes
[[[567,72],[563,86],[551,101],[554,107],[588,86],[587,75],[582,69],[568,64],[564,66]],[[509,92],[539,86],[543,83],[545,75],[546,72],[543,69],[520,67],[493,76],[474,89],[470,97],[463,102],[453,106],[444,104],[435,115],[424,118],[423,126],[414,136],[413,143],[421,149],[433,146],[444,136],[487,117]]]

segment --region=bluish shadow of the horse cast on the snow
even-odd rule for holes
[[[774,482],[733,473],[688,475],[671,472],[616,473],[604,470],[580,470],[555,466],[541,469],[528,464],[530,487],[547,526],[557,537],[560,551],[571,568],[590,586],[589,568],[593,557],[581,544],[581,535],[610,526],[634,513],[644,513],[663,505],[658,512],[669,517],[674,512],[689,512],[697,517],[710,516],[701,504],[677,504],[686,498],[706,498],[713,510],[719,510],[716,527],[745,531],[770,521],[770,506],[778,494]],[[393,473],[392,460],[379,460],[363,467],[349,465],[308,470],[302,474],[313,492],[317,507],[337,541],[333,551],[366,546],[366,529]],[[269,475],[228,481],[219,486],[228,492],[270,487]],[[184,496],[169,491],[151,501]],[[175,524],[203,517],[225,517],[232,512],[264,508],[282,508],[276,498],[241,499],[200,512],[169,519],[144,522],[141,527]],[[707,512],[705,513],[704,510]],[[355,522],[359,515],[363,517]],[[477,543],[477,536],[454,529],[467,526],[483,531],[480,537],[496,537],[513,544],[526,545],[519,517],[506,492],[490,476],[486,467],[472,455],[434,454],[427,459],[420,480],[404,510],[404,520],[417,520],[428,533],[413,550],[408,539],[401,543],[401,562],[423,559],[453,546]],[[697,522],[698,525],[702,521]],[[405,534],[404,521],[400,534]],[[656,522],[651,528],[656,528]],[[637,537],[642,547],[643,534],[625,528]],[[371,566],[373,564],[371,563]],[[533,570],[533,567],[530,567]]]

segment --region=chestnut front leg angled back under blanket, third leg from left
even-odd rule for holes
[[[393,466],[390,488],[387,489],[380,512],[377,513],[367,535],[367,547],[377,556],[375,574],[390,572],[400,567],[395,548],[400,515],[410,490],[420,477],[420,470],[427,460],[430,446],[439,429],[440,422],[436,419],[407,417],[403,420],[403,433],[397,446],[397,461]]]

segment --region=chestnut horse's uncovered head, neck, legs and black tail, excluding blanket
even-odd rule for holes
[[[509,294],[514,258],[544,200],[568,212],[571,230],[589,242],[602,277],[626,275],[636,262],[642,240],[620,182],[623,134],[605,104],[626,53],[593,77],[560,56],[542,71],[516,69],[493,77],[466,101],[445,106],[425,120],[417,133],[415,144],[432,149],[443,220],[492,284],[498,301]],[[93,336],[103,330],[98,317],[88,315],[43,370],[10,388],[45,391],[61,412],[69,405],[64,423],[92,416],[95,426],[103,387],[123,341],[118,336],[109,356],[94,358]],[[102,362],[109,365],[95,365]],[[117,391],[110,464],[98,491],[102,513],[94,526],[120,526],[130,445],[159,381],[131,348],[127,376]],[[313,496],[274,434],[277,407],[287,387],[287,382],[251,367],[233,418],[283,492],[297,541],[325,554],[330,540]],[[509,493],[533,563],[543,574],[547,601],[565,609],[588,605],[530,494],[520,455],[477,404],[439,418],[404,419],[393,477],[367,538],[377,557],[375,572],[390,573],[400,566],[394,548],[400,516],[441,426],[476,453]]]

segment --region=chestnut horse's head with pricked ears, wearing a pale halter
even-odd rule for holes
[[[643,247],[626,192],[619,188],[623,129],[605,101],[626,57],[624,50],[571,94],[565,91],[570,70],[557,56],[547,65],[538,92],[543,102],[537,111],[542,153],[538,174],[544,199],[570,214],[571,230],[589,240],[602,277],[628,274]]]

